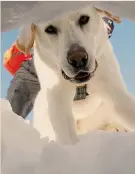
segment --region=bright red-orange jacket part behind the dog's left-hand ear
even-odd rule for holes
[[[14,43],[4,54],[4,67],[14,75],[20,68],[21,63],[25,60],[31,59],[31,54],[22,53]]]

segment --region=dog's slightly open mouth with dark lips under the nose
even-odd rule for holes
[[[86,71],[79,71],[79,73],[75,76],[75,77],[69,77],[65,74],[65,72],[62,70],[62,75],[66,80],[69,80],[71,82],[75,82],[75,83],[84,83],[87,82],[88,80],[90,80],[93,76],[94,73],[97,69],[97,62],[96,62],[96,66],[93,72],[86,72]]]

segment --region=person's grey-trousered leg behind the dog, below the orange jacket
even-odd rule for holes
[[[33,109],[35,97],[39,90],[40,84],[33,61],[23,62],[8,89],[7,99],[11,104],[12,110],[21,117],[26,118]]]

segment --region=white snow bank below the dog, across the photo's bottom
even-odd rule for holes
[[[3,174],[134,174],[135,133],[90,132],[74,146],[40,139],[1,99]]]

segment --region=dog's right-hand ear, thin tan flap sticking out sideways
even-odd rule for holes
[[[105,11],[105,10],[101,10],[96,8],[96,11],[102,14],[105,14],[106,16],[108,16],[110,19],[112,19],[114,22],[116,22],[117,24],[121,23],[121,19],[118,16],[114,16],[113,14]]]

